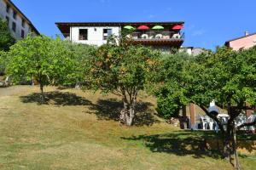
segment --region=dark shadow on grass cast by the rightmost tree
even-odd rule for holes
[[[174,132],[155,135],[139,135],[125,140],[142,140],[145,147],[152,152],[165,152],[177,156],[191,155],[195,158],[212,157],[219,159],[222,154],[218,150],[206,150],[204,139],[212,138],[212,133]]]

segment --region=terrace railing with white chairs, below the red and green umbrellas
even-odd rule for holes
[[[128,37],[132,37],[133,40],[183,40],[184,33],[173,31],[146,31],[146,32],[134,32]]]

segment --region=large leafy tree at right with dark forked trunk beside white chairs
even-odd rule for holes
[[[156,92],[158,99],[164,100],[165,116],[169,116],[168,109],[175,111],[177,105],[199,105],[207,116],[218,123],[224,137],[224,156],[230,157],[236,153],[236,117],[245,113],[246,103],[256,105],[256,48],[238,52],[230,48],[217,48],[215,53],[207,51],[195,58],[184,59],[177,66],[175,59],[178,60],[179,55],[174,54],[176,58],[173,56],[174,61],[166,62],[167,66],[162,64],[160,80],[157,81],[163,81],[158,83],[160,88],[157,89],[160,90]],[[217,114],[208,111],[212,99],[228,111],[230,119],[227,124],[222,124]],[[165,101],[171,106],[168,107]],[[253,124],[256,121],[240,127]]]

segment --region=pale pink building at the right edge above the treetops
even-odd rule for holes
[[[230,41],[225,42],[225,46],[228,48],[233,48],[234,50],[239,50],[241,48],[252,48],[256,45],[256,32],[249,34],[248,31],[245,32],[243,37],[237,37]]]

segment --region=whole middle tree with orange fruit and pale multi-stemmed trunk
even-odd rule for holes
[[[120,119],[131,126],[136,115],[137,94],[145,88],[159,53],[125,41],[103,45],[91,61],[90,82],[95,89],[122,97]]]

